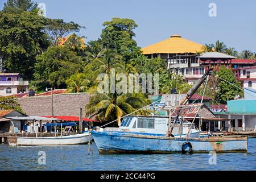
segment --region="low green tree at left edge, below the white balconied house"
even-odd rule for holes
[[[14,96],[0,97],[0,109],[14,109],[20,113],[24,113],[18,102],[18,97]]]

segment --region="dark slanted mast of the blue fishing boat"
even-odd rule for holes
[[[180,105],[187,104],[187,102],[190,100],[190,98],[193,96],[193,94],[196,92],[196,90],[199,89],[199,87],[203,84],[203,82],[206,80],[208,75],[210,75],[210,71],[212,71],[212,70],[213,70],[213,68],[209,68],[208,71],[205,72],[204,75],[199,80],[197,80],[195,82],[195,84],[191,87],[191,89],[188,90],[185,98],[180,102]],[[181,113],[181,109],[179,109],[179,111],[174,119],[174,123],[176,123],[177,119],[179,118],[180,113]],[[172,121],[172,119],[169,119],[167,137],[171,136],[171,121]]]

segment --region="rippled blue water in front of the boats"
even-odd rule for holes
[[[118,154],[100,155],[91,145],[10,147],[0,144],[0,170],[256,170],[256,139],[249,139],[247,153],[217,154]],[[38,152],[46,152],[46,164],[38,164]]]

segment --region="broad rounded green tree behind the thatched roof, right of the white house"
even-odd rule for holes
[[[37,57],[34,77],[38,84],[60,86],[75,73],[83,71],[80,56],[67,47],[51,46]]]

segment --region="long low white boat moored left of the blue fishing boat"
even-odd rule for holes
[[[10,137],[8,143],[10,146],[53,146],[69,144],[86,144],[92,141],[92,135],[76,134],[64,137]]]

